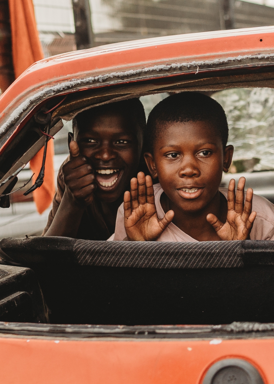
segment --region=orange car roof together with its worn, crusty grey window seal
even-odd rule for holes
[[[196,79],[212,70],[273,66],[273,38],[274,26],[220,30],[126,41],[38,61],[0,97],[0,155],[30,116],[51,98],[113,84],[159,78],[174,81],[185,74]],[[150,93],[155,92],[150,89]]]

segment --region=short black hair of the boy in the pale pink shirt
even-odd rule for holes
[[[153,153],[154,139],[166,122],[208,121],[220,134],[223,147],[228,141],[228,124],[222,106],[199,92],[181,92],[163,99],[149,113],[146,124],[146,149]]]

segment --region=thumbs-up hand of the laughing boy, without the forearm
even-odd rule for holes
[[[70,142],[69,153],[70,159],[62,167],[66,191],[77,204],[87,207],[93,200],[96,187],[94,170],[87,159],[80,155],[76,141]]]

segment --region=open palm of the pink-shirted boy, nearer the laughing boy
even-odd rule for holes
[[[130,192],[124,195],[124,219],[128,240],[153,241],[171,223],[174,217],[172,210],[168,211],[162,219],[158,218],[152,179],[139,172],[137,179],[130,182]]]

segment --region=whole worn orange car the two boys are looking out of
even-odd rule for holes
[[[85,103],[250,87],[274,88],[274,27],[39,61],[0,98],[0,194],[44,146],[37,124],[54,136]],[[6,238],[0,253],[3,384],[274,383],[271,241]]]

